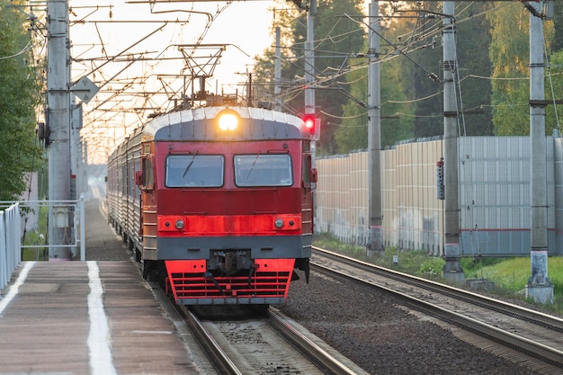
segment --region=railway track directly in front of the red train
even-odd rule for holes
[[[209,320],[199,317],[201,309],[194,313],[182,306],[176,308],[219,374],[362,373],[352,362],[342,356],[336,358],[338,353],[329,353],[330,348],[300,332],[294,322],[275,308],[261,317],[245,313],[242,318]],[[236,308],[229,308],[228,315],[233,309]]]

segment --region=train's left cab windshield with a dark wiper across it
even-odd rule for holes
[[[225,157],[172,155],[166,157],[166,187],[219,187],[223,185]]]

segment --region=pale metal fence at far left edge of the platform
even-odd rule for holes
[[[13,203],[0,211],[0,290],[22,261],[20,252],[20,207]]]

